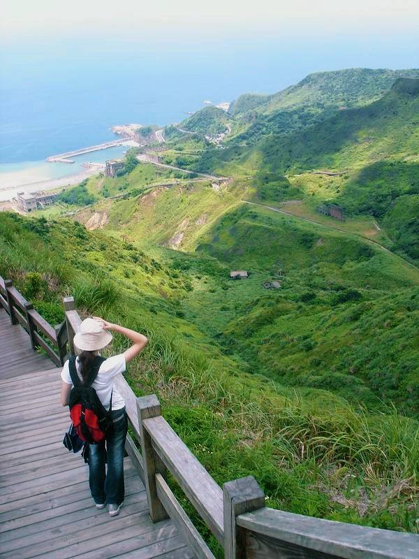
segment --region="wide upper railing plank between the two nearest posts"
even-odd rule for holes
[[[216,539],[223,544],[223,492],[161,416],[145,419],[152,445]]]

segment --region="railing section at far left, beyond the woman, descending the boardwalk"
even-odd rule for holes
[[[8,312],[11,324],[19,323],[29,334],[32,349],[41,348],[55,365],[64,365],[67,354],[67,328],[64,321],[52,327],[34,310],[10,279],[0,276],[0,307]]]

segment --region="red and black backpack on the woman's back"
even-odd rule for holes
[[[97,444],[112,433],[112,393],[110,395],[109,412],[103,407],[96,390],[91,384],[96,379],[104,357],[96,356],[91,365],[89,377],[84,383],[80,380],[75,368],[75,356],[68,361],[73,388],[70,393],[70,416],[78,436],[84,442]]]

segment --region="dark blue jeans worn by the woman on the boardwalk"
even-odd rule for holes
[[[114,432],[105,441],[89,445],[89,485],[96,503],[121,504],[124,500],[124,448],[128,419],[125,408],[112,412]],[[108,472],[105,463],[108,459]]]

